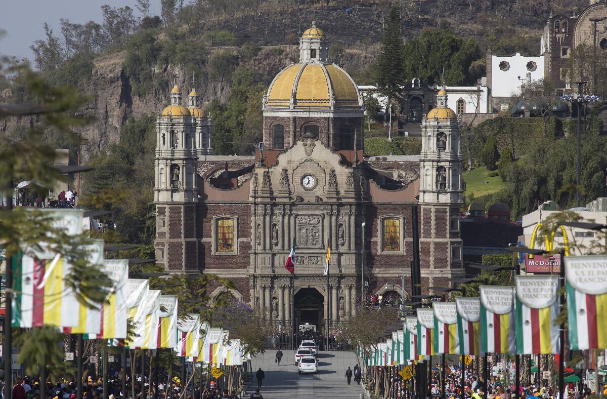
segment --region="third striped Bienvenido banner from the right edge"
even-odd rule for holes
[[[481,285],[481,353],[514,353],[514,287]]]

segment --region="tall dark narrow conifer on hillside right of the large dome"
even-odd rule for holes
[[[378,55],[375,78],[379,88],[391,99],[402,92],[405,83],[404,53],[401,36],[401,12],[392,7],[388,13]]]

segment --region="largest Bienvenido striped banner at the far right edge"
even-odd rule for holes
[[[567,256],[565,276],[571,349],[606,349],[607,256]]]

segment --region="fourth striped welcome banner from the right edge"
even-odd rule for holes
[[[481,300],[479,298],[455,298],[460,355],[480,355]]]

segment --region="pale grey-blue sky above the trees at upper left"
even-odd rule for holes
[[[151,14],[160,13],[160,0],[152,0]],[[30,46],[37,39],[44,38],[44,22],[49,22],[55,36],[59,34],[59,19],[67,18],[72,23],[83,24],[93,20],[101,23],[101,5],[112,7],[128,5],[135,9],[136,0],[17,0],[0,1],[0,29],[5,35],[0,37],[0,55],[27,57],[32,61]]]

